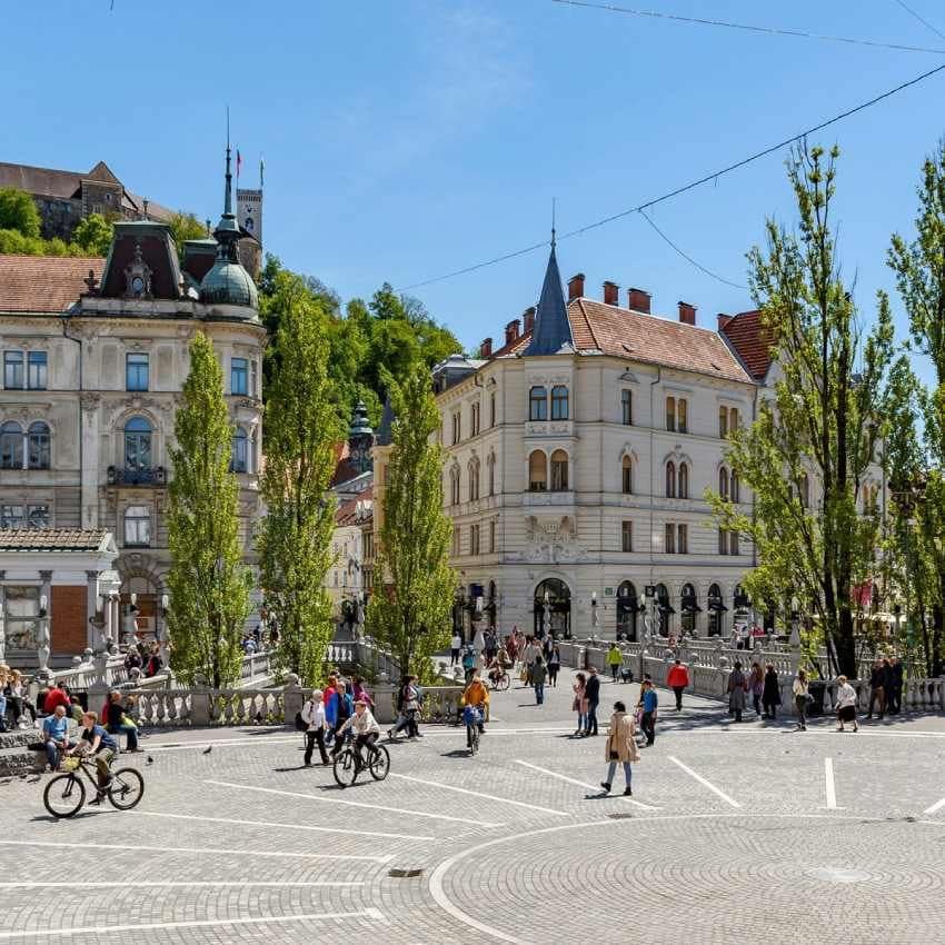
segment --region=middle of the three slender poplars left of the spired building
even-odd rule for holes
[[[266,299],[278,310],[279,364],[267,400],[267,516],[259,541],[267,610],[280,629],[280,668],[315,685],[331,639],[324,588],[331,565],[335,500],[328,485],[341,437],[328,372],[328,317],[305,281],[278,272]]]

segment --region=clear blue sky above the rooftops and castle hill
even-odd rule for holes
[[[941,3],[908,2],[945,32]],[[539,242],[553,197],[559,231],[633,207],[945,62],[550,0],[109,4],[48,2],[41,20],[34,4],[4,10],[0,160],[103,159],[138,192],[216,217],[229,103],[245,182],[266,157],[266,248],[342,299]],[[638,6],[945,49],[895,0]],[[889,233],[911,228],[922,159],[945,133],[943,101],[945,73],[820,139],[843,150],[842,252],[867,320],[876,289],[893,288]],[[784,157],[653,219],[745,284],[765,216],[793,219]],[[545,260],[539,250],[414,294],[472,347],[534,304]],[[705,326],[750,307],[746,290],[692,267],[638,216],[563,241],[559,261],[566,279],[586,273],[588,295],[605,279],[621,298],[637,286],[659,314],[693,302]]]

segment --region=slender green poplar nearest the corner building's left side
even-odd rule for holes
[[[428,676],[430,656],[449,639],[457,585],[449,566],[452,526],[442,510],[444,457],[434,440],[439,411],[425,364],[402,381],[386,380],[397,420],[367,625],[404,672]]]

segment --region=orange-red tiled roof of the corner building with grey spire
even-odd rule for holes
[[[725,341],[707,328],[586,298],[568,302],[568,321],[578,350],[601,351],[727,380],[750,380]],[[493,357],[524,351],[530,337],[531,332],[520,336],[495,351]]]

